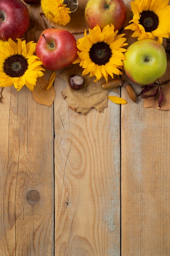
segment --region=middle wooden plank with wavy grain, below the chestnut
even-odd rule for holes
[[[86,115],[54,102],[55,256],[120,255],[120,106]]]

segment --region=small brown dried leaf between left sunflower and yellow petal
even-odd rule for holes
[[[55,89],[51,86],[48,90],[48,80],[43,76],[37,78],[37,85],[34,86],[32,96],[38,103],[51,106],[55,99]]]

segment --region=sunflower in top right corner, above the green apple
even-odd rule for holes
[[[170,36],[170,5],[169,0],[135,0],[131,1],[133,22],[125,29],[135,31],[132,37],[138,40],[155,39],[162,44],[163,37]]]

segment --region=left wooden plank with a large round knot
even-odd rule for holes
[[[0,105],[0,255],[52,255],[53,108],[13,87]]]

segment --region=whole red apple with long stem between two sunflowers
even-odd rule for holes
[[[35,53],[44,67],[59,70],[67,67],[77,57],[76,38],[67,30],[48,28],[42,31]]]

